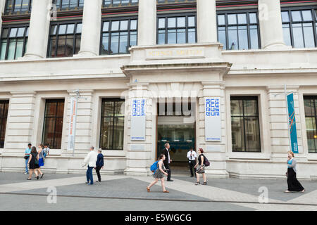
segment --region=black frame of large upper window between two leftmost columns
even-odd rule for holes
[[[70,25],[70,24],[74,24],[74,32],[72,34],[58,34],[58,30],[59,30],[59,26],[60,25]],[[47,52],[46,52],[46,58],[63,58],[63,57],[73,57],[75,55],[75,46],[76,46],[76,40],[77,40],[77,36],[80,35],[80,44],[81,44],[81,39],[82,39],[82,32],[77,33],[77,25],[78,24],[82,24],[82,20],[64,20],[64,21],[58,21],[58,22],[52,22],[49,25],[49,42],[47,44]],[[56,34],[51,34],[51,27],[56,25]],[[67,32],[67,31],[66,31]],[[50,54],[50,49],[51,49],[51,37],[56,37],[56,46],[58,46],[58,37],[59,36],[67,36],[67,35],[73,35],[73,55],[72,56],[62,56],[62,57],[58,57],[57,56],[57,51],[58,48],[55,49],[55,56],[51,57]]]

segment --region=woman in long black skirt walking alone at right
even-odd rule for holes
[[[302,184],[299,183],[299,181],[296,178],[296,160],[294,153],[292,151],[287,152],[288,158],[287,158],[287,191],[285,193],[291,192],[291,191],[301,191],[302,193],[305,192],[305,188],[302,186]]]

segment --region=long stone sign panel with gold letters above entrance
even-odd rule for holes
[[[204,48],[147,49],[147,60],[174,58],[204,58]]]

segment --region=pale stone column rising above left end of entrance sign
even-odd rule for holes
[[[139,0],[137,45],[156,44],[156,0]]]

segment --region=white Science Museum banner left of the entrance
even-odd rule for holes
[[[147,121],[146,99],[132,98],[131,101],[131,141],[144,141]]]

